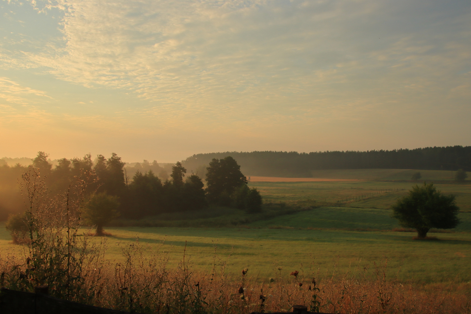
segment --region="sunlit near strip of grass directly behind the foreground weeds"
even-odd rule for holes
[[[0,234],[2,252],[11,246],[8,234]],[[214,244],[218,244],[218,257],[228,259],[228,271],[239,273],[248,267],[251,275],[260,274],[260,280],[274,276],[274,265],[283,266],[287,276],[301,269],[310,274],[344,273],[349,266],[382,263],[388,259],[390,276],[400,270],[398,278],[407,282],[469,282],[471,281],[471,234],[439,233],[439,241],[414,241],[413,233],[390,231],[343,231],[270,228],[160,228],[121,227],[107,228],[113,234],[108,238],[106,257],[121,260],[117,242],[140,242],[156,246],[165,239],[163,250],[170,252],[170,266],[176,266],[183,257],[187,242],[187,257],[193,268],[210,270]]]

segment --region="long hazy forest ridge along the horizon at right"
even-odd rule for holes
[[[426,147],[391,151],[333,152],[225,152],[201,153],[188,157],[182,165],[204,171],[213,158],[232,156],[243,173],[265,177],[312,177],[321,169],[419,169],[471,171],[471,146]],[[200,174],[200,173],[199,173]],[[203,175],[201,173],[200,175]]]

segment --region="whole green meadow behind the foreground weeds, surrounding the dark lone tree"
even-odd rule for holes
[[[210,271],[217,245],[215,259],[218,263],[227,260],[227,270],[235,274],[248,267],[249,274],[258,276],[260,281],[274,276],[275,266],[282,266],[286,276],[294,270],[306,275],[314,272],[327,276],[334,269],[336,274],[355,272],[363,267],[373,270],[374,264],[387,260],[389,276],[397,275],[404,282],[470,282],[470,183],[447,182],[444,178],[450,175],[448,171],[430,171],[430,174],[421,171],[422,177],[429,176],[430,181],[436,181],[443,193],[456,195],[462,209],[459,213],[462,223],[447,233],[430,233],[438,238],[436,241],[417,241],[413,240],[415,233],[393,231],[399,226],[390,217],[389,209],[415,184],[404,178],[406,175],[410,178],[414,170],[380,170],[324,170],[321,173],[329,177],[327,172],[331,171],[330,177],[333,177],[341,176],[343,171],[344,177],[362,181],[252,182],[250,186],[260,190],[267,206],[273,206],[272,212],[279,210],[279,213],[260,215],[235,225],[213,227],[211,222],[215,220],[211,219],[215,218],[209,216],[218,216],[222,224],[224,219],[229,221],[244,213],[221,209],[218,214],[218,209],[211,209],[205,214],[187,215],[186,219],[185,215],[172,219],[168,214],[149,218],[149,221],[167,219],[173,226],[107,227],[106,232],[112,236],[107,237],[106,258],[120,261],[117,244],[138,238],[139,242],[149,243],[154,248],[164,240],[160,250],[168,252],[170,266],[178,265],[186,246],[187,258],[199,271]],[[298,210],[287,212],[286,208]],[[203,226],[178,226],[195,220]],[[10,242],[1,225],[2,253],[13,248]]]

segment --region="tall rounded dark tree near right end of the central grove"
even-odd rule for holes
[[[240,171],[234,158],[213,158],[206,168],[206,193],[210,201],[219,201],[224,195],[231,195],[235,189],[247,184],[247,178]]]

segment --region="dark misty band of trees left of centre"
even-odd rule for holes
[[[234,158],[225,156],[213,159],[205,170],[205,182],[197,173],[187,173],[178,161],[171,167],[170,176],[154,161],[147,169],[134,169],[129,178],[125,163],[116,153],[106,158],[97,155],[94,161],[90,154],[83,158],[60,159],[53,168],[48,154],[39,152],[32,160],[32,166],[45,177],[51,193],[62,193],[81,171],[94,170],[99,180],[88,186],[88,193],[97,193],[102,200],[116,198],[118,212],[122,218],[139,219],[163,212],[199,210],[207,206],[226,206],[244,209],[248,212],[261,210],[260,193],[247,186],[247,179],[240,171]],[[146,163],[144,162],[146,169]],[[152,169],[161,169],[156,175]],[[14,167],[0,167],[0,180],[16,185],[16,180],[27,169],[17,164]],[[162,179],[166,177],[166,179]],[[10,210],[11,211],[11,210]],[[19,210],[15,210],[19,211]],[[5,218],[5,217],[3,217]]]

